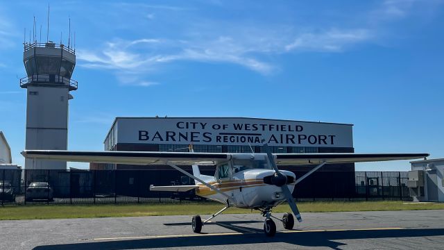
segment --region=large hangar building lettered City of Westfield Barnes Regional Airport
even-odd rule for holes
[[[195,152],[250,153],[253,149],[261,153],[264,138],[273,153],[352,153],[352,127],[352,124],[246,117],[117,117],[104,144],[105,151],[186,152],[188,145],[193,144]],[[165,167],[107,164],[103,168]],[[286,166],[282,169],[303,172],[311,167]],[[99,169],[97,165],[92,168]],[[355,165],[329,165],[324,169],[354,172]]]

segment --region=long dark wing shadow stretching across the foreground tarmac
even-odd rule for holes
[[[259,233],[246,233],[241,235],[208,235],[203,237],[153,238],[56,244],[35,247],[34,250],[151,249],[164,247],[207,247],[233,244],[261,244],[270,242],[284,242],[302,247],[330,247],[331,249],[338,249],[339,246],[345,244],[335,242],[335,240],[410,238],[443,235],[444,228],[276,233],[274,238],[267,238],[265,235]]]

